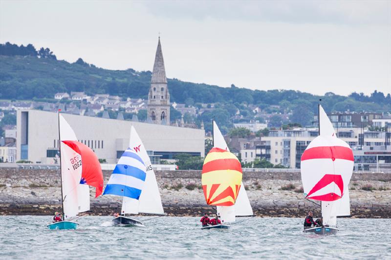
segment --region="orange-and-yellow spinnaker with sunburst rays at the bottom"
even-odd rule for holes
[[[202,167],[202,188],[208,205],[232,206],[239,194],[241,165],[233,153],[213,147]]]

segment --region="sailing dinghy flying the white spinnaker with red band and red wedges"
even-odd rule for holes
[[[306,199],[320,200],[323,223],[304,227],[303,232],[336,234],[337,217],[350,215],[348,184],[353,172],[353,152],[336,137],[325,110],[318,105],[319,136],[312,140],[301,159],[301,175]]]

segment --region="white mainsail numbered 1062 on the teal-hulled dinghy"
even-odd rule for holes
[[[82,177],[82,167],[74,169],[72,161],[74,158],[81,158],[72,148],[62,140],[77,140],[75,132],[66,122],[64,117],[59,115],[60,147],[61,147],[61,176],[63,189],[64,220],[74,217],[79,213],[78,186]]]

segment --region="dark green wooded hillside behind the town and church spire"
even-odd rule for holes
[[[88,95],[107,93],[123,98],[147,98],[151,72],[107,70],[84,62],[57,60],[48,48],[36,51],[31,44],[0,44],[0,99],[31,100],[53,98],[57,92],[85,91]],[[390,94],[374,92],[370,96],[352,93],[348,97],[333,93],[316,96],[293,90],[250,90],[234,85],[228,88],[168,79],[171,101],[178,103],[220,103],[216,113],[231,118],[240,111],[251,119],[246,104],[259,106],[267,113],[291,114],[290,121],[307,124],[322,99],[331,111],[391,111]],[[369,86],[371,87],[371,86]],[[327,90],[325,90],[327,92]]]

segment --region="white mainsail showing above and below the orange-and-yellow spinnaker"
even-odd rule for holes
[[[228,145],[215,121],[213,121],[213,144],[214,147],[229,151]],[[235,222],[235,216],[251,216],[254,214],[244,189],[243,181],[241,182],[235,205],[216,206],[216,208],[217,214],[220,215],[221,220],[224,220],[224,222]]]

